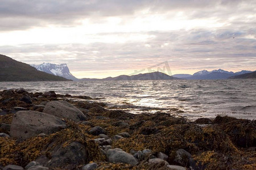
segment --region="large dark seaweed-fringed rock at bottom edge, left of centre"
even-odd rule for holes
[[[64,167],[67,164],[85,164],[88,160],[87,150],[79,142],[72,142],[68,146],[58,146],[51,152],[52,158],[46,163],[49,168]]]

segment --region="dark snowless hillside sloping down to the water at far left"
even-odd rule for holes
[[[0,81],[1,82],[32,82],[32,81],[68,81],[43,71],[38,71],[26,63],[16,61],[0,54]]]

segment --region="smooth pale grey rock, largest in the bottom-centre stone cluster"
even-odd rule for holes
[[[107,157],[111,163],[125,163],[135,165],[138,163],[138,160],[133,157],[133,155],[128,154],[125,151],[122,151],[119,148],[110,149],[107,152]]]

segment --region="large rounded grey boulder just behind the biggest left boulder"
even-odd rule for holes
[[[75,122],[86,120],[84,113],[67,101],[50,101],[46,104],[43,112]]]

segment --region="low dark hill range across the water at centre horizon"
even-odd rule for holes
[[[89,81],[89,80],[106,80],[106,81],[112,81],[112,80],[173,80],[173,79],[179,79],[174,76],[170,76],[167,74],[164,74],[162,72],[156,71],[153,73],[145,73],[145,74],[137,74],[137,75],[119,75],[116,77],[108,77],[104,79],[80,79],[84,81]]]

